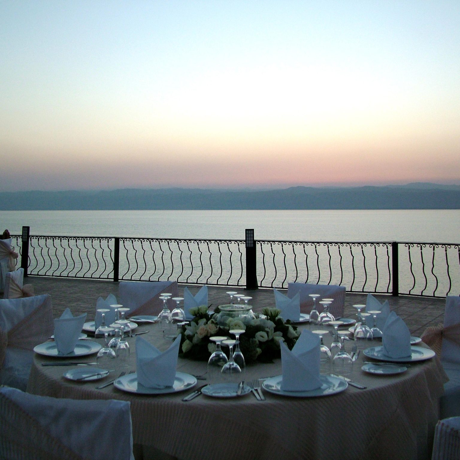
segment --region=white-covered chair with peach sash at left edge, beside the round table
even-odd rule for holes
[[[25,390],[33,349],[53,333],[48,294],[0,300],[0,384]]]

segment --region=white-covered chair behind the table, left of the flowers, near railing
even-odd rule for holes
[[[163,310],[162,293],[178,297],[177,281],[124,281],[120,283],[120,304],[130,311],[126,316],[158,315]],[[169,300],[170,310],[174,301]]]

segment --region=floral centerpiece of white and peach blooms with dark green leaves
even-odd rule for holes
[[[182,357],[207,361],[216,349],[210,337],[230,336],[230,330],[243,329],[240,350],[246,362],[273,362],[273,359],[281,357],[281,342],[292,350],[299,337],[297,328],[289,320],[284,321],[281,311],[276,308],[264,308],[262,313],[266,318],[255,313],[254,318],[228,318],[224,324],[218,322],[219,313],[217,307],[210,314],[206,305],[190,309],[194,318],[180,331]]]

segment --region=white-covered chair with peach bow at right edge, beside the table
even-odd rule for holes
[[[437,352],[449,381],[439,400],[440,418],[460,416],[460,297],[447,296],[444,324],[426,328],[422,340]]]

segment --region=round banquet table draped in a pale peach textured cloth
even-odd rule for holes
[[[142,330],[150,332],[141,337],[160,350],[171,345],[163,339],[159,325],[139,326],[135,332]],[[326,345],[332,339],[327,335]],[[42,362],[55,358],[36,354],[28,391],[51,397],[130,401],[136,459],[431,459],[438,399],[445,381],[437,358],[413,362],[403,374],[374,376],[361,370],[366,359],[361,352],[349,377],[367,389],[349,385],[345,391],[326,397],[283,397],[264,391],[265,401],[249,393],[230,399],[200,395],[183,402],[193,389],[152,396],[123,392],[114,385],[96,388],[118,377],[122,370],[136,368],[136,339],[128,342],[129,367],[121,368],[115,360],[111,377],[93,382],[66,380],[63,373],[72,367],[43,367]],[[380,344],[375,341],[370,345]],[[358,349],[368,346],[358,343]],[[94,362],[96,356],[78,361]],[[203,374],[207,363],[178,358],[177,370]],[[280,374],[281,360],[277,359],[247,365],[243,378],[248,381]],[[198,380],[196,387],[204,383],[213,382]]]

